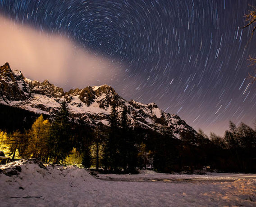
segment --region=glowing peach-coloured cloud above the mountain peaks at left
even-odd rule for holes
[[[13,70],[21,70],[32,80],[48,79],[68,90],[122,78],[119,65],[59,34],[48,35],[1,16],[0,31],[0,65],[9,62]]]

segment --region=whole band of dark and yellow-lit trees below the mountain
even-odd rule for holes
[[[172,128],[155,130],[130,128],[127,109],[118,116],[113,104],[109,126],[73,120],[62,102],[48,119],[40,116],[30,128],[0,133],[0,147],[12,157],[36,157],[42,162],[82,165],[110,172],[135,172],[151,168],[160,172],[256,172],[256,131],[230,122],[224,137],[199,130],[181,132]],[[0,149],[0,150],[2,150]]]

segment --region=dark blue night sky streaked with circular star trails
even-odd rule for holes
[[[247,44],[251,27],[242,29],[248,4],[256,2],[0,0],[0,15],[119,65],[107,84],[124,99],[155,102],[196,130],[223,135],[229,120],[253,126],[256,119],[256,84],[247,80],[256,36]]]

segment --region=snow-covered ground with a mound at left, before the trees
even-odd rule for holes
[[[73,166],[21,160],[0,166],[0,206],[256,206],[256,174],[96,177]]]

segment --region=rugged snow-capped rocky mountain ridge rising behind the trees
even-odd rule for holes
[[[24,108],[29,111],[50,114],[66,100],[74,118],[88,124],[102,122],[108,125],[111,105],[115,103],[119,116],[123,108],[127,109],[128,121],[132,127],[160,130],[169,127],[176,138],[180,132],[197,132],[176,114],[165,113],[155,103],[142,104],[134,100],[126,101],[109,85],[87,86],[84,89],[71,89],[64,92],[62,88],[43,82],[31,81],[16,70],[12,71],[9,63],[0,67],[0,103]]]

